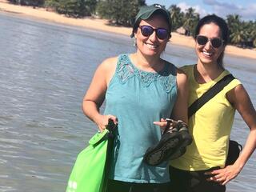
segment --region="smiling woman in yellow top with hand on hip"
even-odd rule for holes
[[[198,22],[195,30],[196,65],[183,66],[190,87],[189,106],[230,74],[222,65],[228,41],[228,26],[216,15],[208,15]],[[246,146],[231,166],[225,166],[234,112],[250,128]],[[165,125],[158,122],[158,125]],[[241,82],[234,79],[189,119],[193,142],[186,153],[170,162],[170,182],[173,192],[222,192],[225,184],[235,178],[245,166],[256,147],[256,112]]]

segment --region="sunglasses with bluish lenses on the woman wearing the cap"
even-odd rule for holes
[[[143,36],[150,37],[151,34],[155,33],[157,34],[159,39],[166,39],[169,36],[169,31],[165,28],[157,28],[154,29],[152,26],[139,26],[139,28],[142,31]]]

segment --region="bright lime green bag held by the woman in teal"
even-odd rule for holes
[[[89,146],[78,154],[66,192],[106,192],[108,159],[113,140],[110,129],[90,138]]]

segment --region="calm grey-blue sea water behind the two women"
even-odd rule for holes
[[[0,191],[62,192],[79,151],[96,126],[81,104],[104,58],[134,52],[126,36],[38,22],[0,13]],[[196,61],[194,50],[167,46],[177,66]],[[256,61],[226,55],[256,106]],[[236,114],[232,137],[249,133]],[[227,192],[255,190],[256,153]]]

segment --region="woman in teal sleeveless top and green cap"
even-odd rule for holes
[[[170,115],[187,122],[186,75],[160,58],[170,31],[170,14],[163,6],[142,7],[132,33],[137,51],[103,61],[86,92],[86,116],[100,131],[109,119],[118,127],[108,192],[170,190],[167,162],[149,166],[142,161],[146,150],[162,137],[154,122]],[[100,114],[105,99],[106,109]]]

